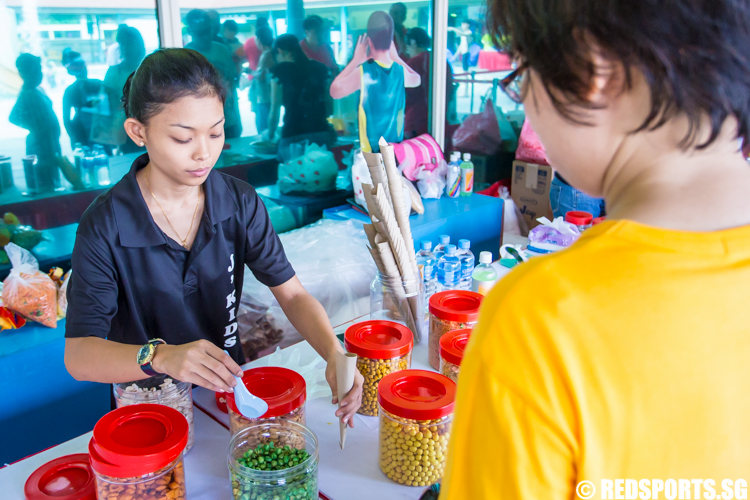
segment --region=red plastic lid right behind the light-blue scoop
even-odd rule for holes
[[[268,411],[259,418],[273,418],[291,413],[307,400],[307,384],[302,375],[288,368],[264,366],[245,371],[242,381],[248,390],[268,403]],[[227,407],[239,413],[234,393],[228,392]]]

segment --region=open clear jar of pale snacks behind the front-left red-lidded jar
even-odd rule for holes
[[[195,441],[193,418],[193,386],[188,382],[173,380],[167,375],[157,375],[136,382],[114,384],[115,404],[118,408],[138,404],[156,404],[174,408],[188,421],[189,435],[185,453]]]

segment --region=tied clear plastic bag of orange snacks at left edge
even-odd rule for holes
[[[57,286],[39,271],[28,250],[14,243],[5,246],[13,268],[3,282],[5,307],[32,321],[57,328]]]

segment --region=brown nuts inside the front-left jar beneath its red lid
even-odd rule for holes
[[[113,478],[96,474],[98,500],[185,500],[182,457],[145,477]]]

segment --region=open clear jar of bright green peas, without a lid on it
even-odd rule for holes
[[[243,428],[229,444],[235,500],[316,500],[318,438],[296,422],[263,421]]]

